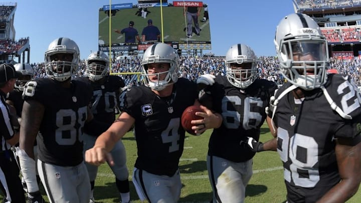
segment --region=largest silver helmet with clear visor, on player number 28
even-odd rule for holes
[[[290,83],[319,88],[329,68],[327,40],[317,23],[305,14],[290,14],[277,26],[274,40],[279,70]]]

